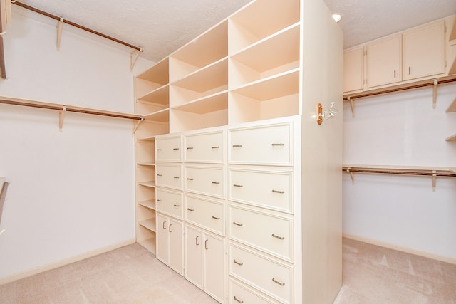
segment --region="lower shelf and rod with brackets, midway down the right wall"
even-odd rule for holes
[[[432,177],[432,190],[435,191],[436,177],[456,177],[456,168],[448,167],[393,167],[393,166],[365,166],[365,165],[346,165],[342,171],[349,173],[351,181],[355,183],[354,173],[371,174],[401,174],[418,175]]]

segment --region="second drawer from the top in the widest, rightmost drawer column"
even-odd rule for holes
[[[228,199],[292,213],[293,172],[229,169],[228,174]]]

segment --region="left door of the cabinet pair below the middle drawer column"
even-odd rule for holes
[[[185,245],[185,278],[202,289],[202,233],[185,226]]]

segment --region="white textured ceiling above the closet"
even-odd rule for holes
[[[160,61],[249,0],[19,0],[144,49]],[[274,0],[281,1],[281,0]],[[305,0],[309,1],[309,0]],[[345,47],[456,14],[456,0],[324,0]],[[21,10],[19,6],[14,9]],[[34,13],[33,13],[34,14]],[[53,19],[49,22],[55,23]],[[97,38],[94,36],[94,38]],[[101,38],[103,39],[103,38]]]

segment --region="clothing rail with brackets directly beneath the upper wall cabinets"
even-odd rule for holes
[[[353,117],[354,117],[355,108],[353,105],[353,101],[358,98],[366,98],[366,97],[380,95],[380,94],[395,93],[395,92],[399,92],[399,91],[403,91],[403,90],[411,90],[411,89],[415,89],[415,88],[424,88],[424,87],[433,86],[432,107],[435,108],[435,103],[436,103],[436,99],[437,99],[437,85],[442,85],[444,83],[452,83],[452,82],[456,82],[456,74],[445,76],[445,77],[440,77],[440,78],[435,78],[435,79],[421,80],[421,81],[417,81],[415,83],[394,85],[394,86],[388,87],[388,88],[369,90],[367,92],[346,94],[346,95],[343,95],[343,100],[350,101],[351,112],[353,113]]]

